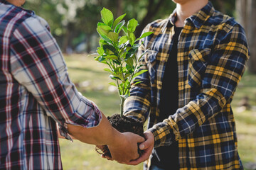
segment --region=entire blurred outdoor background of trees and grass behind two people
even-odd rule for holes
[[[245,28],[251,59],[233,99],[233,111],[238,132],[238,150],[245,169],[256,169],[256,60],[255,60],[255,0],[213,0],[213,6],[235,17]],[[27,0],[24,8],[31,9],[48,21],[51,33],[65,54],[70,79],[84,96],[95,101],[105,115],[119,113],[119,96],[108,83],[110,78],[88,54],[96,51],[97,22],[105,7],[114,16],[127,13],[125,20],[139,21],[137,36],[144,26],[158,18],[166,18],[176,7],[171,0]],[[253,20],[254,19],[254,20]],[[92,145],[78,140],[60,140],[64,169],[142,169],[101,159]]]

